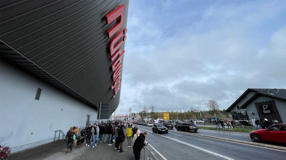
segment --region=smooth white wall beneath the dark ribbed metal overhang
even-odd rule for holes
[[[97,119],[97,110],[0,60],[0,144],[12,152],[52,141],[55,130],[85,125],[87,114]]]

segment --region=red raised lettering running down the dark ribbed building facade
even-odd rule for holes
[[[112,79],[113,84],[111,85],[111,89],[113,89],[113,97],[116,96],[117,92],[121,87],[121,58],[125,53],[125,50],[122,50],[120,47],[123,44],[123,41],[126,40],[126,32],[127,28],[122,30],[121,27],[124,22],[124,12],[125,5],[121,4],[119,7],[109,12],[106,17],[106,23],[110,24],[114,20],[118,20],[116,24],[114,24],[108,31],[108,37],[112,38],[109,42],[109,53],[112,67]]]

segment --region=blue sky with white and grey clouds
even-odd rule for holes
[[[130,0],[118,114],[286,87],[285,0]]]

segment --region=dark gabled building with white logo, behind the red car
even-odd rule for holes
[[[267,118],[270,121],[286,122],[286,89],[248,88],[226,111],[236,120]]]

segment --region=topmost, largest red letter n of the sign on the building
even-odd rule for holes
[[[112,37],[113,34],[115,34],[123,25],[124,22],[124,10],[125,10],[125,5],[121,4],[119,7],[108,13],[106,17],[106,23],[110,24],[113,22],[115,19],[120,17],[120,21],[117,22],[113,27],[111,27],[107,32],[108,32],[108,37]]]

